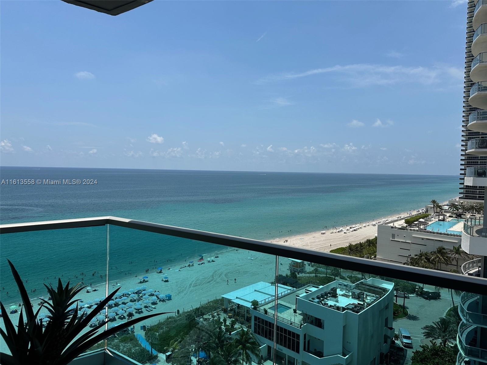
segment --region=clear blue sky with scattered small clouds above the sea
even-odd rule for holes
[[[0,163],[459,173],[466,2],[2,1]]]

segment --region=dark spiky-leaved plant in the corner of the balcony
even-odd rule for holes
[[[78,299],[75,299],[75,296],[85,287],[76,284],[74,287],[70,288],[69,281],[66,286],[63,287],[61,279],[59,278],[57,289],[44,284],[52,300],[49,302],[45,299],[41,299],[44,303],[34,313],[31,301],[27,295],[27,291],[19,273],[12,262],[10,262],[10,260],[7,261],[17,286],[19,287],[23,308],[19,313],[19,322],[16,330],[5,307],[0,302],[3,323],[5,325],[5,331],[0,329],[0,333],[11,352],[11,355],[4,352],[0,353],[0,363],[2,365],[66,365],[82,352],[122,329],[126,329],[156,315],[174,313],[164,312],[144,315],[120,324],[116,328],[107,329],[106,331],[98,333],[98,330],[103,328],[108,322],[108,320],[105,320],[96,325],[93,329],[81,334],[83,329],[85,329],[95,315],[97,315],[100,310],[112,300],[112,297],[120,288],[117,288],[110,293],[107,298],[101,301],[94,310],[88,313],[88,315],[78,318]],[[68,308],[75,303],[75,310],[68,310]],[[43,320],[37,319],[37,315],[42,308],[49,311],[49,315],[47,316],[49,322],[45,328],[43,327]]]

